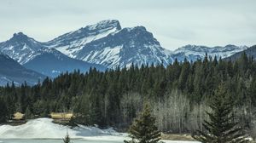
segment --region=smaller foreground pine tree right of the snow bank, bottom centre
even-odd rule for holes
[[[159,142],[160,131],[155,126],[155,118],[150,113],[148,103],[145,104],[141,115],[131,124],[128,132],[132,140],[125,140],[125,143]]]

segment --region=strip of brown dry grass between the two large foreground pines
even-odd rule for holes
[[[190,134],[161,134],[162,140],[188,140],[195,141]]]

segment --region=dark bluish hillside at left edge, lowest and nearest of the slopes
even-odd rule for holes
[[[44,75],[28,70],[21,66],[17,61],[11,59],[6,54],[0,53],[0,85],[6,85],[7,83],[14,83],[19,85],[26,81],[27,84],[38,83],[38,80],[43,80]]]

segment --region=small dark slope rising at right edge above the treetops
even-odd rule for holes
[[[227,57],[225,60],[237,60],[241,57],[241,54],[243,54],[243,52],[245,52],[247,54],[247,56],[252,57],[255,60],[256,59],[256,45],[250,47],[249,49],[246,49],[244,51],[238,52],[236,54],[232,54],[230,57]]]

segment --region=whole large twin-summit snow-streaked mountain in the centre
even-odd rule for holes
[[[118,20],[103,20],[46,43],[63,54],[108,68],[116,66],[172,62],[171,52],[163,49],[143,26],[121,28]]]

